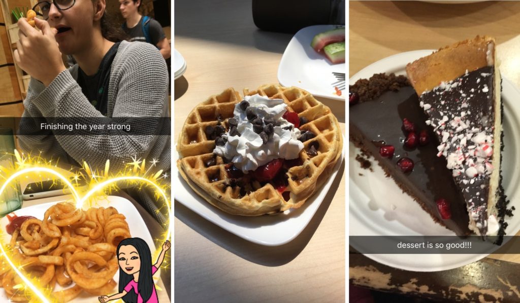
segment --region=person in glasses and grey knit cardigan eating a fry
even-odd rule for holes
[[[26,154],[59,159],[64,167],[86,162],[93,172],[102,171],[107,160],[112,172],[124,171],[135,159],[154,161],[151,173],[162,171],[168,184],[172,146],[171,136],[163,131],[170,130],[166,63],[150,44],[123,40],[105,8],[106,0],[40,1],[33,7],[36,28],[25,18],[18,21],[20,39],[13,57],[31,76],[19,147]],[[66,68],[61,54],[77,63]],[[84,126],[106,121],[124,126],[120,121],[129,118],[145,122],[131,132],[42,128],[41,122],[57,117]],[[153,190],[137,189],[131,196],[165,226],[163,202],[155,199]]]

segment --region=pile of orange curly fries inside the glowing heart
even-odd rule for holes
[[[116,247],[131,235],[125,216],[113,207],[84,211],[62,202],[47,209],[43,220],[11,217],[7,228],[12,229],[13,258],[25,274],[51,290],[56,283],[68,287],[53,292],[57,302],[68,302],[82,292],[103,295],[117,286],[113,279],[119,269]],[[11,301],[29,301],[30,293],[17,286],[22,282],[9,269],[3,260],[0,276],[7,296]]]

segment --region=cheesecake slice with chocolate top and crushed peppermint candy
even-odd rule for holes
[[[477,36],[407,65],[426,124],[437,138],[477,235],[503,235],[502,104],[495,39]],[[447,201],[454,203],[456,201]],[[453,204],[451,204],[453,207]]]

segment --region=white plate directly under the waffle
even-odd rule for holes
[[[175,151],[174,157],[177,161],[179,158],[177,151]],[[172,188],[175,188],[175,200],[206,220],[253,243],[278,246],[292,241],[309,224],[328,194],[344,157],[345,146],[343,146],[341,158],[337,161],[327,182],[301,208],[273,216],[244,217],[225,213],[197,195],[176,170],[173,172]],[[176,168],[177,166],[175,166]]]

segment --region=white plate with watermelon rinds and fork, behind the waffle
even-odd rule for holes
[[[313,25],[294,35],[278,66],[278,81],[281,85],[301,87],[318,97],[345,101],[345,89],[338,96],[332,86],[337,81],[332,72],[345,73],[345,63],[332,64],[324,54],[317,53],[310,47],[314,36],[335,27],[336,25]]]

